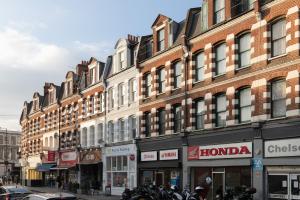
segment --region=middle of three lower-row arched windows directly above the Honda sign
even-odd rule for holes
[[[216,126],[222,127],[226,124],[226,96],[225,94],[216,97]]]

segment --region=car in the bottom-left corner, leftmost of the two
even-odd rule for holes
[[[28,189],[20,186],[1,186],[0,200],[19,200],[32,194]]]

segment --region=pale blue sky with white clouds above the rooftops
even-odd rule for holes
[[[20,130],[24,101],[91,56],[105,61],[159,13],[180,22],[201,0],[0,0],[0,128]]]

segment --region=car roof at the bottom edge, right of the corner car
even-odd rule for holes
[[[65,192],[30,194],[23,200],[77,200],[73,194]]]

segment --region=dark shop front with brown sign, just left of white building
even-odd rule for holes
[[[100,149],[86,149],[80,152],[80,184],[94,190],[102,190],[102,153]],[[83,187],[84,188],[84,187]]]

